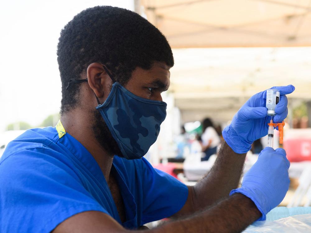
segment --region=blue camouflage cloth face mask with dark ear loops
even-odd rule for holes
[[[106,122],[123,156],[127,159],[142,158],[159,135],[160,125],[166,117],[166,103],[134,95],[115,82],[108,69],[103,67],[114,84],[103,104],[100,104],[95,95],[98,102],[96,109]],[[67,88],[71,82],[83,81],[70,80]]]

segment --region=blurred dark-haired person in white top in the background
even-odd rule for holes
[[[220,138],[217,134],[210,118],[205,118],[202,122],[201,147],[205,156],[201,161],[208,160],[212,154],[216,154],[217,147],[220,144]]]

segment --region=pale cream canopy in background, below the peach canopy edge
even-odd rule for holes
[[[228,121],[249,97],[273,86],[295,85],[290,107],[311,101],[310,47],[188,48],[173,54],[169,92],[183,122],[207,116]]]

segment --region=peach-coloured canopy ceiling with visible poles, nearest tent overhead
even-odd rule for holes
[[[172,48],[311,46],[310,0],[140,0]]]

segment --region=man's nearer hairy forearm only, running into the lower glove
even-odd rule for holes
[[[241,232],[260,216],[253,201],[243,194],[234,194],[212,208],[148,232]]]

